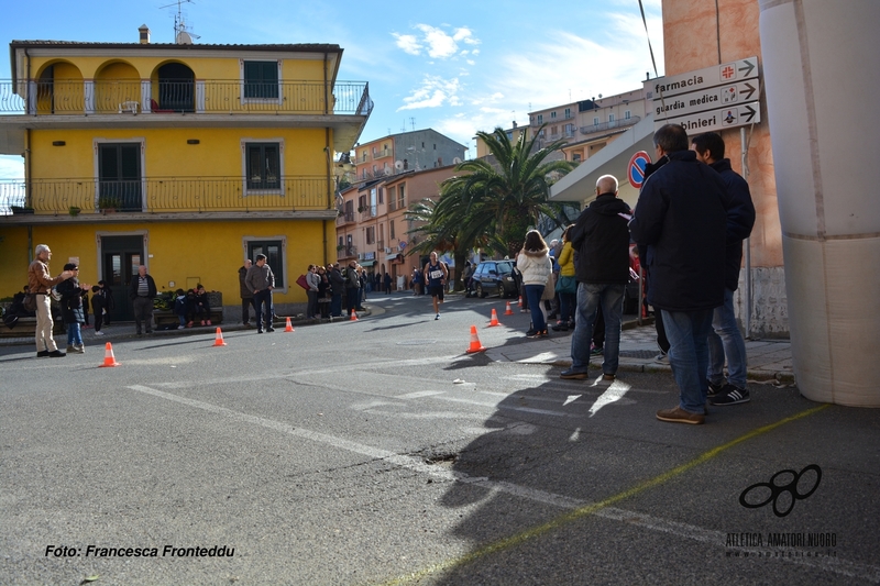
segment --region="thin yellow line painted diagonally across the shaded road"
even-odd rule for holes
[[[505,539],[498,540],[498,541],[496,541],[494,543],[490,543],[488,545],[484,545],[484,546],[480,548],[479,550],[474,550],[471,553],[468,553],[468,554],[462,555],[460,557],[454,557],[454,559],[451,559],[451,560],[447,560],[444,562],[432,564],[432,565],[430,565],[430,566],[428,566],[426,568],[422,568],[422,570],[420,570],[418,572],[414,572],[414,573],[408,574],[406,576],[400,576],[400,577],[391,579],[391,581],[385,582],[383,584],[384,584],[384,586],[397,586],[397,585],[400,585],[400,584],[407,584],[407,583],[413,582],[413,581],[421,579],[421,578],[424,578],[426,576],[429,576],[431,574],[436,574],[436,573],[439,573],[439,572],[446,572],[448,570],[453,570],[455,567],[460,567],[460,566],[466,565],[466,564],[471,563],[471,562],[474,562],[474,561],[476,561],[476,560],[479,560],[481,557],[485,557],[487,555],[492,555],[493,553],[498,553],[498,552],[508,550],[510,548],[516,548],[520,543],[525,543],[526,541],[529,541],[531,539],[535,539],[535,538],[538,538],[540,535],[543,535],[544,533],[548,533],[549,531],[552,531],[553,529],[558,529],[558,528],[560,528],[560,527],[562,527],[564,524],[568,524],[568,523],[570,523],[572,521],[575,521],[575,520],[578,520],[578,519],[580,519],[582,517],[585,517],[587,515],[592,515],[592,513],[594,513],[594,512],[596,512],[596,511],[598,511],[601,509],[604,509],[606,507],[610,507],[612,505],[615,505],[615,504],[617,504],[617,502],[619,502],[622,500],[625,500],[625,499],[627,499],[629,497],[634,497],[634,496],[638,495],[639,493],[644,493],[645,490],[648,490],[649,488],[654,488],[657,486],[666,484],[667,482],[671,480],[672,478],[674,478],[676,476],[680,476],[681,474],[688,472],[689,469],[691,469],[691,468],[693,468],[695,466],[698,466],[701,464],[705,464],[706,462],[708,462],[710,460],[713,460],[715,456],[717,456],[722,452],[724,452],[726,450],[729,450],[730,447],[734,447],[735,445],[738,445],[738,444],[740,444],[743,442],[747,442],[747,441],[749,441],[749,440],[751,440],[754,438],[757,438],[758,435],[762,435],[762,434],[765,434],[765,433],[767,433],[769,431],[772,431],[772,430],[774,430],[774,429],[777,429],[777,428],[779,428],[781,425],[784,425],[785,423],[791,423],[792,421],[796,421],[799,419],[803,419],[805,417],[810,417],[810,416],[812,416],[814,413],[817,413],[817,412],[822,411],[823,409],[827,409],[828,407],[831,407],[829,403],[821,405],[818,407],[814,407],[812,409],[807,409],[805,411],[801,411],[800,413],[793,414],[791,417],[787,417],[785,419],[781,419],[781,420],[779,420],[779,421],[777,421],[774,423],[770,423],[769,425],[765,425],[762,428],[755,429],[755,430],[752,430],[752,431],[750,431],[750,432],[748,432],[748,433],[746,433],[744,435],[740,435],[739,438],[737,438],[735,440],[732,440],[732,441],[729,441],[729,442],[727,442],[725,444],[722,444],[722,445],[719,445],[717,447],[713,447],[708,452],[704,452],[703,454],[696,456],[695,458],[691,460],[690,462],[685,462],[684,464],[682,464],[680,466],[676,466],[676,467],[674,467],[674,468],[672,468],[672,469],[670,469],[668,472],[664,472],[663,474],[654,476],[653,478],[645,480],[644,483],[638,484],[638,485],[636,485],[632,488],[629,488],[627,490],[624,490],[623,493],[618,493],[617,495],[614,495],[613,497],[608,497],[605,500],[602,500],[600,502],[594,502],[592,505],[585,505],[585,506],[580,507],[578,509],[574,509],[574,510],[572,510],[570,512],[561,515],[561,516],[557,517],[556,519],[553,519],[551,521],[548,521],[548,522],[546,522],[543,524],[539,524],[539,526],[532,527],[532,528],[527,529],[527,530],[525,530],[525,531],[522,531],[520,533],[517,533],[515,535],[510,535],[509,538],[505,538]]]

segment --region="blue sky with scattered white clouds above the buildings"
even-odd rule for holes
[[[659,74],[660,0],[642,0]],[[170,8],[162,8],[170,4]],[[538,8],[539,5],[548,8]],[[13,40],[152,42],[174,38],[176,0],[0,2],[0,80]],[[34,7],[38,7],[36,11]],[[651,71],[638,0],[339,2],[196,0],[182,4],[197,43],[332,43],[340,80],[367,81],[375,109],[361,142],[432,128],[470,148],[479,130],[528,123],[528,112],[638,89]],[[22,177],[0,157],[0,177]]]

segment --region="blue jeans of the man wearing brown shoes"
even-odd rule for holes
[[[660,310],[669,339],[669,364],[679,386],[679,407],[691,413],[703,414],[706,407],[708,383],[708,332],[712,330],[713,310]]]

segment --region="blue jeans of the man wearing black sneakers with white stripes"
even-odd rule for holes
[[[746,341],[739,333],[734,313],[734,291],[724,289],[724,305],[712,314],[708,332],[708,372],[706,377],[713,385],[724,383],[724,357],[727,356],[727,382],[746,388]]]

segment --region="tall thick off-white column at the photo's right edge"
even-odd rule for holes
[[[798,386],[880,407],[880,1],[759,2]]]

